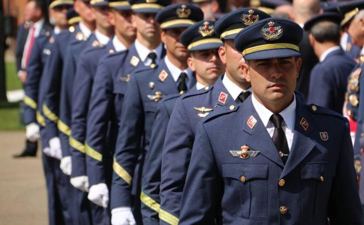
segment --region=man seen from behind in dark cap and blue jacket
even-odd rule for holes
[[[310,74],[307,102],[343,114],[347,80],[355,62],[340,47],[342,15],[323,13],[305,23],[309,40],[320,60]],[[340,62],[340,63],[337,63]]]

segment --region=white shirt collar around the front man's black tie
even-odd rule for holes
[[[274,125],[269,120],[273,113],[270,112],[269,109],[265,108],[265,106],[262,105],[260,102],[258,102],[258,100],[254,96],[254,93],[252,94],[252,102],[254,109],[257,111],[260,119],[263,122],[263,125],[269,133],[269,136],[273,137]],[[283,117],[282,129],[286,135],[287,144],[290,151],[293,142],[294,123],[296,121],[296,97],[294,95],[292,103],[287,106],[287,108],[282,110],[282,112],[280,112],[279,114]]]

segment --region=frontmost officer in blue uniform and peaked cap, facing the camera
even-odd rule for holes
[[[253,94],[197,125],[179,224],[363,224],[348,121],[294,94],[301,38],[277,18],[237,35]]]

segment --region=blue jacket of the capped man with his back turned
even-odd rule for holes
[[[354,60],[342,49],[329,53],[311,71],[307,102],[342,115],[347,81],[354,67]]]

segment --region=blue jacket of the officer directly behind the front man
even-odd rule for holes
[[[236,105],[219,77],[210,89],[179,98],[168,124],[162,152],[160,224],[177,224],[196,124],[221,106]],[[173,162],[173,163],[171,163]]]

